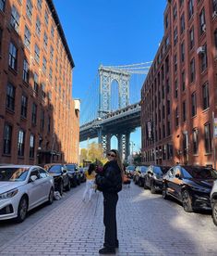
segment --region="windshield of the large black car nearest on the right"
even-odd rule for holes
[[[185,166],[182,168],[182,172],[185,178],[217,179],[217,172],[207,167]]]

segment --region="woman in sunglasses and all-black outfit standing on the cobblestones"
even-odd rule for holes
[[[107,154],[108,161],[102,173],[96,175],[97,188],[103,194],[103,224],[105,226],[103,248],[101,254],[115,253],[118,248],[116,228],[117,193],[122,189],[123,165],[117,150],[112,149]]]

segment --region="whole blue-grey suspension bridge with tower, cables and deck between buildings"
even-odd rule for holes
[[[117,139],[118,151],[127,160],[130,134],[140,126],[140,90],[150,62],[100,66],[94,82],[81,98],[79,141],[98,138],[104,152]]]

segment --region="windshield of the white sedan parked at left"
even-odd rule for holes
[[[29,168],[0,168],[0,181],[18,182],[25,181]]]

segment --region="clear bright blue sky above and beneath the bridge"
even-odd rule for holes
[[[101,64],[150,61],[163,37],[166,0],[54,0],[54,6],[76,65],[74,98],[82,98]],[[140,147],[140,129],[130,140]]]

